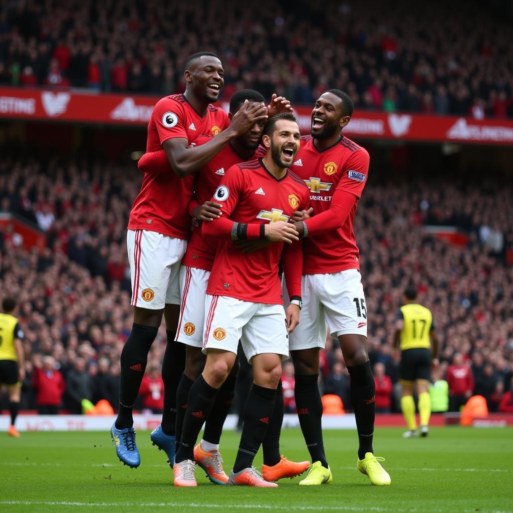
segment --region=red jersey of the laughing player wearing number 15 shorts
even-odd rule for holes
[[[313,207],[314,215],[306,221],[307,227],[315,216],[332,207],[332,199],[337,191],[355,196],[345,220],[338,223],[337,219],[332,219],[336,223],[332,229],[308,234],[305,238],[303,274],[329,274],[360,269],[360,253],[352,225],[358,200],[367,182],[367,151],[343,135],[336,144],[319,151],[313,144],[313,137],[305,135],[301,137],[301,147],[291,169],[302,177],[310,189],[310,206]]]

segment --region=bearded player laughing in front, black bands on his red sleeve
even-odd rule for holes
[[[297,237],[288,220],[295,210],[308,207],[308,189],[287,169],[298,151],[299,138],[292,114],[272,117],[263,135],[265,157],[227,170],[213,195],[213,201],[222,204],[223,215],[202,225],[206,236],[220,242],[205,301],[207,360],[189,391],[173,467],[175,486],[196,486],[194,444],[235,363],[239,340],[253,366],[254,382],[229,484],[277,486],[265,481],[252,462],[272,421],[281,361],[288,356],[288,333],[297,325],[301,306],[302,251],[300,244],[293,244]],[[232,244],[264,238],[274,243],[248,254]],[[286,312],[278,275],[282,255],[291,294]]]

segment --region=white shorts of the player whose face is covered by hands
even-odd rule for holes
[[[176,340],[188,346],[203,348],[205,295],[210,271],[183,265],[180,267],[180,319]]]

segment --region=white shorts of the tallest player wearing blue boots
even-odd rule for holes
[[[127,231],[132,306],[160,310],[180,304],[178,273],[187,241],[156,231]]]

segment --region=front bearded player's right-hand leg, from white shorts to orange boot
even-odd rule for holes
[[[288,357],[288,331],[281,305],[255,305],[244,326],[241,344],[253,366],[253,384],[244,407],[244,425],[239,450],[229,483],[232,485],[275,487],[253,467],[269,428],[282,374],[282,359]]]

